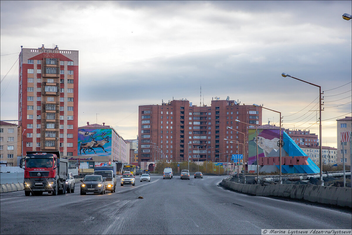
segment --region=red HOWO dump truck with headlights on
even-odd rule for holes
[[[20,167],[24,168],[25,195],[65,194],[67,162],[67,159],[60,159],[59,151],[27,151],[26,157],[20,159]]]

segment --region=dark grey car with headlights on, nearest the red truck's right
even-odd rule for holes
[[[81,182],[81,195],[86,195],[86,193],[105,194],[105,179],[101,175],[86,175]]]

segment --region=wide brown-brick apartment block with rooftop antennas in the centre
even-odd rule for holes
[[[168,161],[226,162],[231,154],[242,154],[244,135],[250,125],[262,125],[262,108],[240,105],[234,100],[212,100],[210,106],[195,106],[188,100],[172,100],[162,105],[140,105],[138,109],[138,163]],[[199,147],[199,148],[198,148]],[[248,148],[246,147],[246,150]],[[198,151],[199,150],[199,151]],[[247,155],[247,154],[246,154]]]

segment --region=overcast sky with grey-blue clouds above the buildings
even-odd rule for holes
[[[336,147],[336,119],[352,109],[351,2],[2,0],[1,120],[18,119],[20,46],[58,45],[79,51],[78,126],[133,139],[138,105],[229,96],[319,134],[319,88],[284,72],[325,91],[322,142]],[[264,110],[268,121],[278,113]]]

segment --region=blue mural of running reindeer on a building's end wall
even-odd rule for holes
[[[111,155],[111,129],[78,129],[78,149],[80,155]]]

